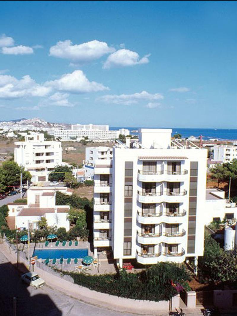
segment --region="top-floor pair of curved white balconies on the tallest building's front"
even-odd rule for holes
[[[182,182],[184,177],[188,174],[187,170],[182,171],[143,171],[138,170],[137,179],[142,182]]]

